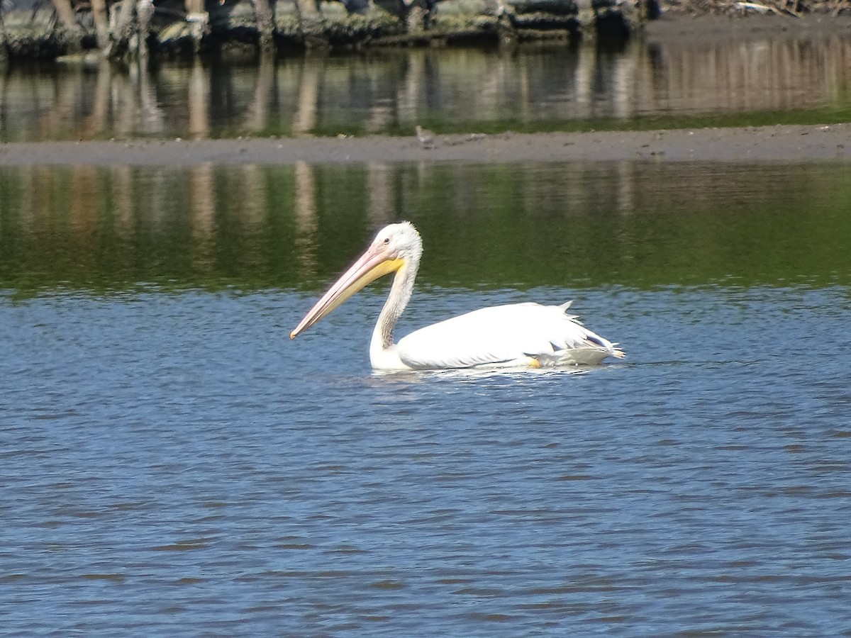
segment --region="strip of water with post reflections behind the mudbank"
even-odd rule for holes
[[[412,135],[848,122],[851,38],[380,50],[165,64],[13,66],[0,139]]]

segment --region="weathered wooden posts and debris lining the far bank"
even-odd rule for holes
[[[116,58],[530,39],[629,37],[660,0],[3,0],[0,53]],[[845,0],[667,0],[703,12],[837,13]],[[673,5],[672,5],[673,6]],[[690,5],[689,5],[690,6]],[[697,6],[696,4],[694,6]],[[838,8],[838,9],[837,9]]]

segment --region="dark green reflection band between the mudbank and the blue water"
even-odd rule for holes
[[[842,164],[4,168],[0,288],[317,288],[412,219],[420,282],[851,280]]]

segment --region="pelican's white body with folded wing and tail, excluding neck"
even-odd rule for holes
[[[511,304],[475,310],[401,339],[397,354],[412,368],[551,367],[594,364],[624,353],[592,333],[568,304]]]

